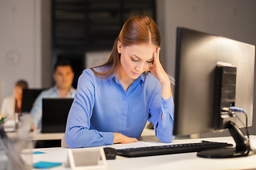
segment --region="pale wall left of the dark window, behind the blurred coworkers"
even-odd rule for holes
[[[0,103],[18,79],[30,87],[48,85],[50,13],[42,13],[49,2],[0,0]]]

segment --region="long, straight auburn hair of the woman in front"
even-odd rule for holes
[[[112,52],[105,64],[97,67],[107,67],[107,70],[96,72],[92,67],[92,72],[97,77],[107,79],[114,74],[120,64],[120,54],[117,52],[117,42],[121,42],[124,47],[138,44],[154,44],[160,47],[161,35],[154,20],[148,16],[133,16],[129,18],[122,27],[119,36],[114,41]]]

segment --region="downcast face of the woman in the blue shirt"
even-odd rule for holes
[[[153,44],[129,45],[124,47],[118,42],[117,51],[120,54],[120,69],[122,74],[125,73],[129,79],[137,79],[140,74],[148,70],[151,66],[156,47]]]

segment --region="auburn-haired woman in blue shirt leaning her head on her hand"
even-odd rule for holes
[[[65,130],[68,147],[138,142],[147,120],[159,140],[174,140],[174,101],[159,62],[160,42],[152,18],[124,23],[109,60],[85,69],[78,80]]]

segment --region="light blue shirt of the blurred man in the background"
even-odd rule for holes
[[[71,87],[65,98],[74,98],[75,89]],[[56,86],[42,91],[41,94],[36,98],[35,103],[33,103],[33,108],[31,109],[31,115],[33,115],[33,123],[35,123],[37,129],[41,129],[42,125],[42,100],[43,98],[60,98],[59,91]]]

